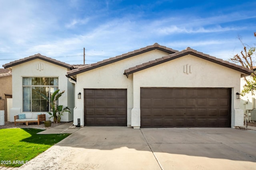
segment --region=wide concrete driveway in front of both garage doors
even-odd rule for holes
[[[83,127],[24,170],[256,170],[256,131]]]

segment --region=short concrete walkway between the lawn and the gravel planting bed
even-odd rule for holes
[[[73,122],[68,122],[51,129],[47,129],[45,131],[39,132],[37,134],[60,134],[60,133],[74,133],[78,130],[78,128],[70,128]]]

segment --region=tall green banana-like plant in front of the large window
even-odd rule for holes
[[[47,102],[50,103],[50,106],[52,108],[52,112],[47,112],[49,115],[51,115],[51,117],[53,118],[54,123],[60,123],[60,119],[61,116],[63,115],[64,111],[71,113],[68,107],[64,107],[63,105],[58,105],[58,99],[62,96],[62,94],[65,92],[65,90],[63,90],[62,92],[58,93],[60,91],[60,89],[56,90],[55,92],[53,92],[51,98],[48,98],[46,95],[37,92],[38,94],[40,94],[42,96],[42,98],[44,98],[45,100],[47,100]],[[50,117],[50,118],[51,118]]]

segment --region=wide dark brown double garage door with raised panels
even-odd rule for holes
[[[230,127],[230,88],[141,88],[141,127]]]

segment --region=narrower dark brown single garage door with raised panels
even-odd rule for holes
[[[86,126],[126,126],[126,89],[85,89],[84,122]]]

